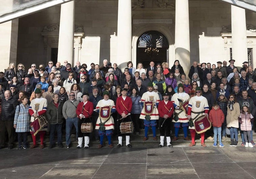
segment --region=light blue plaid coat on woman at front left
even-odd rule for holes
[[[14,116],[14,124],[16,124],[16,132],[29,132],[30,115],[28,112],[29,105],[23,104],[17,106]]]

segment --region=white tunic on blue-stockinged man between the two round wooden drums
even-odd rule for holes
[[[108,99],[108,100],[101,99],[98,102],[96,109],[99,109],[100,107],[104,107],[104,106],[110,106],[110,111],[111,111],[111,109],[116,109],[115,103],[111,99]],[[102,113],[103,113],[103,115],[106,115],[106,111],[103,111]],[[110,114],[112,114],[112,113],[110,113]],[[105,122],[106,120],[101,119],[101,121]],[[97,119],[95,129],[99,129],[99,127],[100,127],[99,123],[100,123],[100,117],[98,117],[98,119]],[[110,116],[109,120],[105,123],[104,126],[106,127],[106,130],[114,129],[114,120],[113,120],[112,115]]]

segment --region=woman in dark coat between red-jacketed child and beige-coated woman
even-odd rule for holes
[[[223,95],[220,94],[219,98],[217,99],[217,103],[220,106],[220,109],[224,113],[224,122],[222,124],[222,140],[226,141],[226,126],[227,126],[227,104],[228,104],[228,99]]]

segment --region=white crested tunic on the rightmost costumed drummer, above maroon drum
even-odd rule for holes
[[[191,108],[193,112],[203,112],[201,114],[195,114],[191,112],[191,118],[194,120],[195,118],[199,118],[204,115],[205,110],[209,111],[208,101],[204,96],[193,96],[190,98],[188,103],[188,108]],[[188,127],[189,129],[195,129],[195,127]]]

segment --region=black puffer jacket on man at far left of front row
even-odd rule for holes
[[[7,101],[5,98],[2,99],[2,112],[0,119],[2,121],[14,121],[14,115],[18,101],[13,97],[10,97]]]

